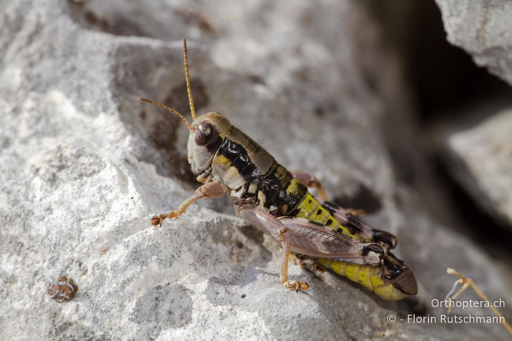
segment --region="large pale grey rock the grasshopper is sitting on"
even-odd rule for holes
[[[375,90],[393,92],[382,83],[392,68],[355,38],[374,32],[357,3],[47,0],[0,13],[0,339],[506,337],[498,325],[386,322],[444,312],[430,302],[452,287],[446,267],[508,302],[511,272],[395,180]],[[137,101],[187,112],[182,36],[196,109],[225,113],[331,197],[368,207],[398,235],[417,298],[384,302],[293,265],[312,288],[284,291],[278,245],[225,199],[149,224],[197,186],[183,124]],[[367,70],[371,55],[379,66]],[[46,294],[60,275],[79,287],[66,304]],[[458,311],[470,312],[490,315]]]

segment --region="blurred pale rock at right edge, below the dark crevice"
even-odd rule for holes
[[[450,134],[450,169],[479,205],[512,228],[512,110]]]

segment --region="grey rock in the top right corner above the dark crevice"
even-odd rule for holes
[[[507,0],[436,0],[447,40],[480,66],[512,84],[512,3]]]

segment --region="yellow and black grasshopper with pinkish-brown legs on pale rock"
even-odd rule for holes
[[[181,113],[161,103],[143,99],[178,116],[190,131],[188,163],[203,185],[177,210],[151,219],[161,226],[175,219],[190,204],[227,194],[237,215],[281,244],[279,282],[289,290],[308,290],[306,282],[288,280],[290,254],[303,264],[320,264],[373,290],[386,300],[399,300],[417,292],[412,271],[389,249],[395,236],[371,228],[350,210],[326,200],[314,176],[290,172],[245,133],[218,112],[196,117],[188,74],[186,40],[183,59],[190,112],[189,123]],[[318,199],[309,193],[315,188]],[[309,263],[308,263],[309,262]]]

